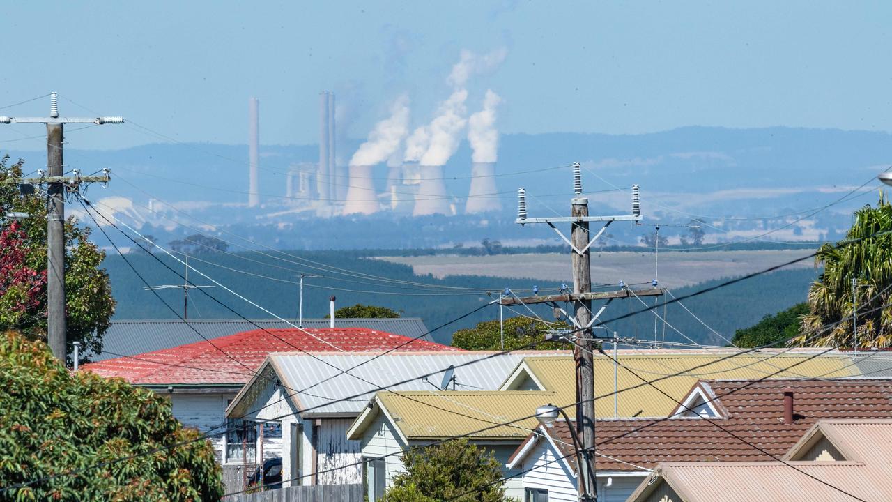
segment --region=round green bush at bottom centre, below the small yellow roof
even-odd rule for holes
[[[393,478],[385,502],[502,502],[501,464],[467,439],[409,450],[402,456],[406,472]]]

